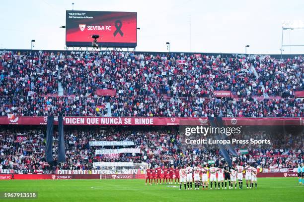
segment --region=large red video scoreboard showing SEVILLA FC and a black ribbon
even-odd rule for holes
[[[66,45],[91,46],[92,35],[102,47],[136,47],[137,12],[67,10]]]

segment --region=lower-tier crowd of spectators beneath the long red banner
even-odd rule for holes
[[[42,128],[7,128],[0,131],[0,164],[2,169],[93,169],[93,162],[133,162],[155,165],[180,166],[189,162],[206,163],[214,160],[216,165],[224,158],[218,148],[186,148],[177,128],[67,128],[65,129],[66,162],[57,162],[58,135],[54,134],[54,163],[45,162],[45,135]],[[264,138],[263,132],[255,129],[251,137]],[[301,134],[302,133],[302,134]],[[283,143],[257,148],[252,145],[233,145],[238,156],[230,155],[233,162],[256,162],[263,168],[296,167],[304,161],[303,131],[283,135]],[[283,138],[285,137],[285,138]],[[291,137],[293,137],[291,139]],[[275,140],[275,137],[273,137]],[[273,141],[272,140],[272,141]],[[90,146],[89,141],[132,141],[134,146]],[[284,142],[285,141],[285,142]],[[294,145],[284,143],[294,142]],[[280,147],[276,146],[280,145]],[[140,153],[120,153],[116,157],[96,155],[97,149],[139,148]],[[247,149],[242,153],[240,150]]]

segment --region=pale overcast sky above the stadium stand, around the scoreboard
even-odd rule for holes
[[[0,49],[63,50],[66,10],[138,12],[141,51],[278,54],[282,21],[304,22],[304,0],[4,0]],[[284,32],[284,44],[304,45],[304,29]],[[285,47],[284,53],[304,53]]]

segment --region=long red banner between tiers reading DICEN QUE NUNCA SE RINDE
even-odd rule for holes
[[[304,125],[304,118],[223,118],[224,125],[253,125],[253,126],[281,126],[281,125]],[[38,116],[0,116],[0,125],[46,125],[47,117]],[[55,119],[55,125],[58,120]],[[64,117],[65,125],[209,125],[208,118],[195,117]]]

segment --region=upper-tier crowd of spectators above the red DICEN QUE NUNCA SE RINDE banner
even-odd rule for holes
[[[304,99],[295,97],[303,91],[303,59],[3,53],[0,115],[303,117]],[[114,89],[116,96],[98,96],[98,89]]]

